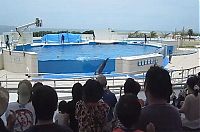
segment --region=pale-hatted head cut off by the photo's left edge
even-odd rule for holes
[[[9,101],[8,91],[5,88],[0,87],[0,117],[6,111],[8,106],[8,101]]]

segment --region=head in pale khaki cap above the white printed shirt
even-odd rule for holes
[[[26,83],[21,83],[18,85],[18,97],[20,104],[27,104],[31,97],[31,89]]]

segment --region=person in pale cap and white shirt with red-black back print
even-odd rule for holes
[[[18,84],[18,101],[11,102],[5,113],[7,123],[14,120],[13,131],[22,132],[35,123],[35,111],[31,100],[32,85],[28,80],[23,80]],[[12,117],[12,118],[8,118]]]

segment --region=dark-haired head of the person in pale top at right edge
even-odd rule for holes
[[[195,96],[199,93],[200,79],[197,76],[191,76],[187,79],[187,89],[189,94],[194,94]]]

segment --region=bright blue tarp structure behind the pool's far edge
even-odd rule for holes
[[[64,43],[80,43],[80,34],[61,33],[61,34],[46,34],[42,37],[42,42],[47,43],[61,43],[62,35],[64,36]]]

